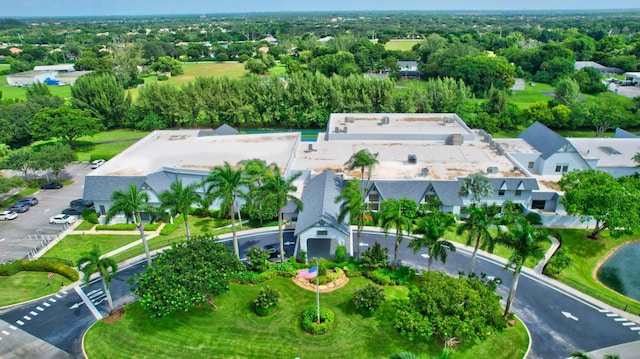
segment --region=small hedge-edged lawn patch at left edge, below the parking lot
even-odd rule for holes
[[[60,290],[61,282],[70,284],[67,278],[56,273],[51,280],[46,272],[18,272],[8,277],[0,276],[0,288],[5,288],[0,290],[0,307],[56,293]]]

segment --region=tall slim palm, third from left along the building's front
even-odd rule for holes
[[[206,193],[213,199],[221,199],[221,213],[231,215],[231,231],[233,232],[233,251],[236,257],[240,258],[240,249],[238,248],[238,236],[236,233],[236,200],[244,197],[242,187],[249,185],[249,180],[244,174],[244,170],[234,170],[229,162],[224,162],[224,166],[216,167],[211,170],[209,176],[204,179],[204,183],[208,184]],[[225,207],[228,209],[225,210]]]

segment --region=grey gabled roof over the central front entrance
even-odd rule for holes
[[[307,182],[302,191],[304,207],[298,215],[296,236],[320,221],[349,235],[349,225],[338,222],[340,204],[335,203],[342,186],[342,177],[330,171],[324,171]]]

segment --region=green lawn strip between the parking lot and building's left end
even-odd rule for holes
[[[83,253],[98,245],[103,254],[140,239],[136,235],[70,234],[45,253],[44,258],[63,258],[76,262]]]

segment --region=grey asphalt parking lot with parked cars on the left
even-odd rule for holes
[[[90,171],[88,163],[70,164],[60,179],[72,179],[73,184],[57,190],[39,190],[32,195],[39,200],[36,206],[14,220],[0,222],[0,263],[22,259],[43,241],[61,233],[62,225],[49,224],[49,217],[67,208],[71,200],[82,197],[84,176]]]

